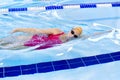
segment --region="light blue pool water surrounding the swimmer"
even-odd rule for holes
[[[106,0],[115,2],[115,0]],[[116,0],[119,1],[119,0]],[[0,8],[47,6],[52,4],[78,4],[105,2],[105,0],[1,0]],[[60,46],[29,51],[0,50],[0,67],[27,65],[39,62],[73,59],[117,52],[120,50],[120,8],[65,9],[0,14],[0,38],[10,36],[10,31],[19,27],[60,28],[68,32],[74,26],[83,28],[83,36],[112,30],[103,35],[69,41]],[[115,32],[114,30],[117,30]],[[21,34],[21,33],[20,33]],[[15,34],[15,35],[19,35]],[[72,70],[33,74],[0,80],[119,80],[120,62],[112,62]],[[75,74],[74,76],[72,76]]]

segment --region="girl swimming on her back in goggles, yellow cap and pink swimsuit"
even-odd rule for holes
[[[16,28],[12,31],[12,33],[16,32],[28,33],[30,35],[16,36],[12,38],[12,41],[9,38],[1,39],[0,47],[5,49],[23,49],[39,45],[39,47],[37,47],[36,49],[46,49],[57,44],[65,43],[71,38],[80,37],[80,35],[82,34],[82,28],[74,27],[68,33],[63,32],[58,28]]]

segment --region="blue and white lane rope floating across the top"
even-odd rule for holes
[[[8,9],[0,9],[0,13],[60,10],[60,9],[68,9],[68,8],[105,8],[105,7],[107,8],[120,7],[120,2],[64,4],[64,5],[52,5],[52,6],[28,7],[28,8],[27,7],[26,8],[8,8]]]

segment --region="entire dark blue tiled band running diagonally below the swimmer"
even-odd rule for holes
[[[0,68],[0,78],[75,69],[120,60],[120,51],[89,57]]]

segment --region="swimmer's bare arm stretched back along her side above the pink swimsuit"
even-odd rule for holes
[[[16,28],[12,31],[12,33],[15,32],[25,32],[25,33],[32,33],[32,34],[58,34],[62,32],[58,28],[49,28],[49,29],[37,29],[37,28]]]

